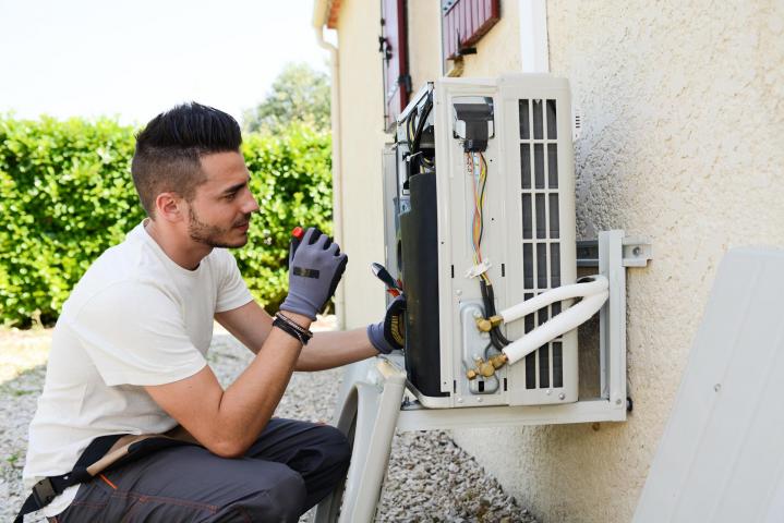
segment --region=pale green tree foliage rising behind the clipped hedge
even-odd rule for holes
[[[329,77],[306,63],[290,63],[273,82],[264,101],[244,114],[246,131],[278,132],[299,122],[329,129]]]

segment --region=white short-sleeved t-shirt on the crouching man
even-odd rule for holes
[[[44,392],[29,426],[26,491],[41,477],[70,472],[99,436],[173,428],[177,422],[142,386],[204,368],[215,313],[251,300],[224,248],[188,270],[142,223],[107,250],[76,284],[55,327]],[[41,513],[65,510],[77,488],[68,488]]]

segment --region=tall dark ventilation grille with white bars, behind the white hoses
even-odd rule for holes
[[[556,100],[521,99],[520,194],[524,299],[560,285],[558,126]],[[526,316],[526,332],[560,313],[560,303]],[[536,316],[536,317],[534,317]],[[526,356],[526,388],[564,386],[563,340]]]

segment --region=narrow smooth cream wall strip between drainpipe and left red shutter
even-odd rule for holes
[[[384,262],[382,148],[384,100],[378,34],[381,2],[343,0],[338,19],[345,327],[384,317],[384,287],[370,264]]]

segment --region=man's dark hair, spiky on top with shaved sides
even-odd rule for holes
[[[161,112],[136,135],[131,162],[133,183],[147,216],[155,218],[155,198],[174,192],[192,202],[206,181],[200,159],[240,149],[242,133],[230,114],[195,101]]]

